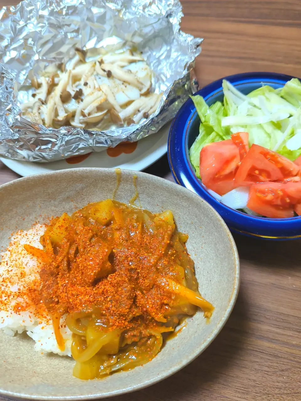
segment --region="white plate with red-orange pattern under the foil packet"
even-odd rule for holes
[[[76,164],[69,164],[66,160],[49,163],[22,162],[8,158],[0,160],[11,170],[23,177],[65,168],[75,167],[111,167],[127,168],[141,171],[150,166],[167,152],[167,138],[170,124],[164,126],[157,134],[152,134],[138,141],[137,148],[130,154],[122,153],[117,157],[110,157],[106,150],[90,154],[85,160]]]

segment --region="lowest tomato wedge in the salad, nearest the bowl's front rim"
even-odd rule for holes
[[[300,201],[301,182],[262,182],[250,186],[247,207],[266,217],[286,219],[294,216]]]

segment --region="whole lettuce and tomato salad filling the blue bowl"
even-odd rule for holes
[[[225,205],[270,218],[301,215],[301,83],[244,95],[223,81],[224,103],[191,97],[201,119],[189,158]]]

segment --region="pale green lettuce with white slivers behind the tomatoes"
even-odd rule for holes
[[[283,88],[266,85],[244,95],[223,81],[224,104],[208,106],[203,97],[191,99],[201,119],[199,135],[189,150],[189,158],[199,175],[199,153],[203,146],[248,132],[249,145],[274,150],[294,161],[301,155],[301,83],[294,78]],[[300,144],[300,146],[299,146]]]

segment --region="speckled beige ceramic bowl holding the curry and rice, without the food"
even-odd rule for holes
[[[143,367],[106,379],[81,381],[72,376],[73,360],[45,356],[33,349],[25,335],[0,334],[0,393],[27,399],[97,399],[154,384],[196,358],[217,336],[228,319],[239,288],[239,261],[235,243],[221,217],[193,192],[162,178],[122,171],[116,199],[128,203],[135,193],[142,207],[152,212],[171,209],[180,231],[189,234],[187,248],[195,261],[201,294],[215,306],[209,324],[201,311]],[[113,169],[77,168],[21,178],[0,187],[0,245],[16,229],[29,229],[45,216],[72,213],[87,203],[112,197]]]

